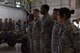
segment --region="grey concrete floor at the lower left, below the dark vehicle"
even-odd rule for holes
[[[6,43],[0,45],[0,53],[21,53],[21,44],[17,43],[15,47],[9,47]]]

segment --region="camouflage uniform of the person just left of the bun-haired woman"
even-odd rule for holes
[[[52,29],[52,37],[51,37],[51,49],[52,53],[58,53],[58,42],[59,42],[59,37],[58,37],[58,32],[60,29],[60,24],[58,22],[55,23]]]

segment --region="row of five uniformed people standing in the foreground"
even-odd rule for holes
[[[80,32],[70,22],[75,11],[67,7],[55,8],[52,16],[48,11],[49,6],[44,4],[41,11],[34,9],[29,15],[28,53],[80,53]],[[43,15],[42,19],[39,13]],[[26,43],[23,46],[22,52],[26,53]]]

